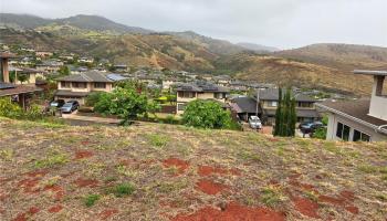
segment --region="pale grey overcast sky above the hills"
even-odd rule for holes
[[[156,31],[192,30],[280,49],[337,42],[387,46],[387,0],[0,0],[44,18],[98,14]]]

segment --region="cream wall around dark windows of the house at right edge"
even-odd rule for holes
[[[347,119],[336,114],[328,114],[328,125],[327,125],[327,133],[326,133],[327,140],[341,140],[341,138],[336,137],[338,122],[351,127],[349,141],[353,140],[355,129],[370,136],[372,141],[387,140],[387,135],[376,133],[374,129],[369,127],[366,127],[359,123],[353,122],[351,119]]]

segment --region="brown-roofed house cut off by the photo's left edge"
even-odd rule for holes
[[[10,83],[9,59],[15,57],[10,53],[0,52],[0,98],[8,97],[19,103],[22,108],[27,108],[33,94],[42,90],[34,85],[15,85]]]

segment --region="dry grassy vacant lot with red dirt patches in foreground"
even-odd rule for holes
[[[0,220],[386,220],[387,144],[0,118]]]

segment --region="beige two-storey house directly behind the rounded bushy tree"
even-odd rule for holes
[[[187,103],[195,99],[212,99],[224,104],[229,90],[213,84],[184,84],[176,88],[176,113],[184,114]]]

